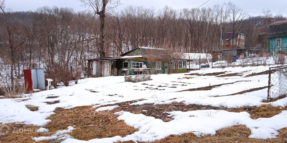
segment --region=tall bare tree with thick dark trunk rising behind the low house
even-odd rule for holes
[[[86,7],[89,6],[94,10],[94,13],[100,16],[100,57],[106,57],[106,50],[104,47],[104,27],[106,8],[115,8],[120,4],[120,0],[80,0]]]

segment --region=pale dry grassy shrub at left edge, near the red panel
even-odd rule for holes
[[[20,98],[26,92],[26,89],[25,86],[14,84],[11,86],[2,86],[1,92],[4,98]]]

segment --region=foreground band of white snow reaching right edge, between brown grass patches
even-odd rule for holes
[[[172,111],[168,112],[174,120],[163,122],[161,119],[155,119],[144,114],[132,114],[126,111],[120,111],[115,114],[120,115],[117,119],[139,130],[125,137],[115,136],[112,138],[92,139],[89,141],[80,141],[68,138],[64,143],[98,143],[98,142],[151,142],[163,139],[169,135],[180,135],[183,133],[194,133],[197,136],[214,135],[216,130],[235,125],[245,125],[251,130],[250,138],[268,139],[276,138],[277,130],[287,127],[287,111],[275,115],[271,118],[251,119],[247,112],[228,112],[223,110],[198,110],[198,111]]]

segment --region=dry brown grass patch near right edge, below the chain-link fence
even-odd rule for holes
[[[273,107],[270,104],[265,104],[261,106],[247,106],[247,107],[241,107],[241,108],[229,108],[227,111],[229,112],[242,112],[246,111],[251,115],[252,119],[258,119],[258,118],[270,118],[272,116],[275,116],[282,111],[287,110],[286,108],[280,108],[280,107]]]

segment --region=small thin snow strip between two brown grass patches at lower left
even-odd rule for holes
[[[41,130],[40,130],[41,129]],[[40,128],[39,132],[41,131],[47,131],[45,128]],[[57,140],[62,140],[62,139],[68,139],[70,138],[70,135],[67,135],[67,133],[71,133],[75,128],[69,126],[67,130],[58,130],[54,135],[52,136],[40,136],[40,137],[34,137],[33,140],[35,142],[43,141],[43,140],[51,140],[51,139],[57,139]],[[37,131],[38,132],[38,131]]]

